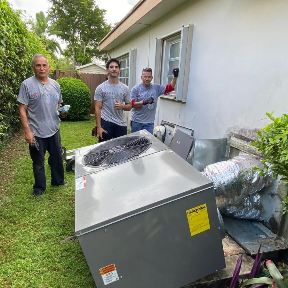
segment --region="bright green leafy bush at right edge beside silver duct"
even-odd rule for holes
[[[283,201],[283,214],[288,210],[288,114],[274,118],[273,113],[266,113],[272,121],[271,124],[258,131],[259,140],[252,143],[264,155],[262,163],[270,163],[261,171],[264,175],[268,171],[273,173],[275,178],[281,176],[285,185],[286,199]]]

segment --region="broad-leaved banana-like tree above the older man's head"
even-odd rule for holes
[[[56,24],[49,25],[50,16],[46,16],[40,11],[36,13],[36,22],[32,22],[32,29],[37,37],[41,39],[41,42],[46,46],[46,49],[51,52],[51,56],[56,60],[56,53],[62,53],[60,44],[54,38],[48,38],[51,35],[61,35],[62,31],[56,30]]]

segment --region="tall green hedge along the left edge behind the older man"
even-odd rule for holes
[[[36,53],[49,53],[39,38],[26,29],[6,0],[0,0],[0,149],[19,127],[17,94],[21,82],[33,75],[31,60]]]

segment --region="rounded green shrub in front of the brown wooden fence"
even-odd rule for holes
[[[61,87],[63,105],[71,105],[67,120],[83,120],[89,115],[91,108],[91,92],[87,85],[72,77],[63,77],[56,81]]]

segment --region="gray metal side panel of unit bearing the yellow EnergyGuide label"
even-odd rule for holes
[[[213,188],[189,193],[78,236],[97,287],[110,264],[119,277],[111,288],[177,288],[225,268]],[[191,236],[186,211],[202,204],[210,229]]]

